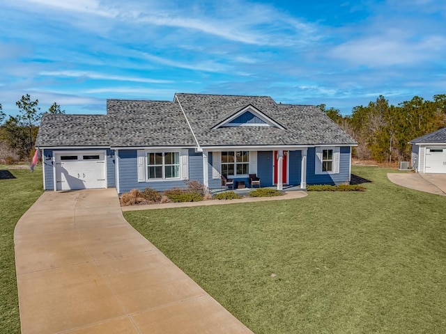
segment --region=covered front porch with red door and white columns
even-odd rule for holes
[[[249,177],[260,178],[262,188],[299,190],[307,187],[307,147],[277,148],[201,148],[203,154],[203,183],[213,192],[224,189],[222,175],[245,183],[250,190]],[[232,188],[230,186],[229,188]]]

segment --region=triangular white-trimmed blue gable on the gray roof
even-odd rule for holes
[[[220,127],[277,127],[279,129],[284,129],[282,125],[279,125],[275,120],[266,116],[252,104],[248,104],[241,109],[236,109],[235,113],[232,113],[229,117],[218,122],[213,129],[218,129]]]

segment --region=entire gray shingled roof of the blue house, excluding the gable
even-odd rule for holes
[[[177,94],[201,146],[354,145],[356,142],[316,106],[277,104],[268,96]],[[45,115],[37,146],[197,146],[180,104],[108,100],[107,115]],[[220,127],[248,105],[285,129]]]

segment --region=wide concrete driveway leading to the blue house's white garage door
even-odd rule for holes
[[[122,216],[114,189],[46,192],[14,234],[22,333],[252,333]]]

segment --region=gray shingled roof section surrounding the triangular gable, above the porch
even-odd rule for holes
[[[268,96],[177,94],[192,130],[202,146],[319,145],[356,142],[316,106],[277,104]],[[228,110],[251,104],[286,129],[220,127],[212,129]]]

